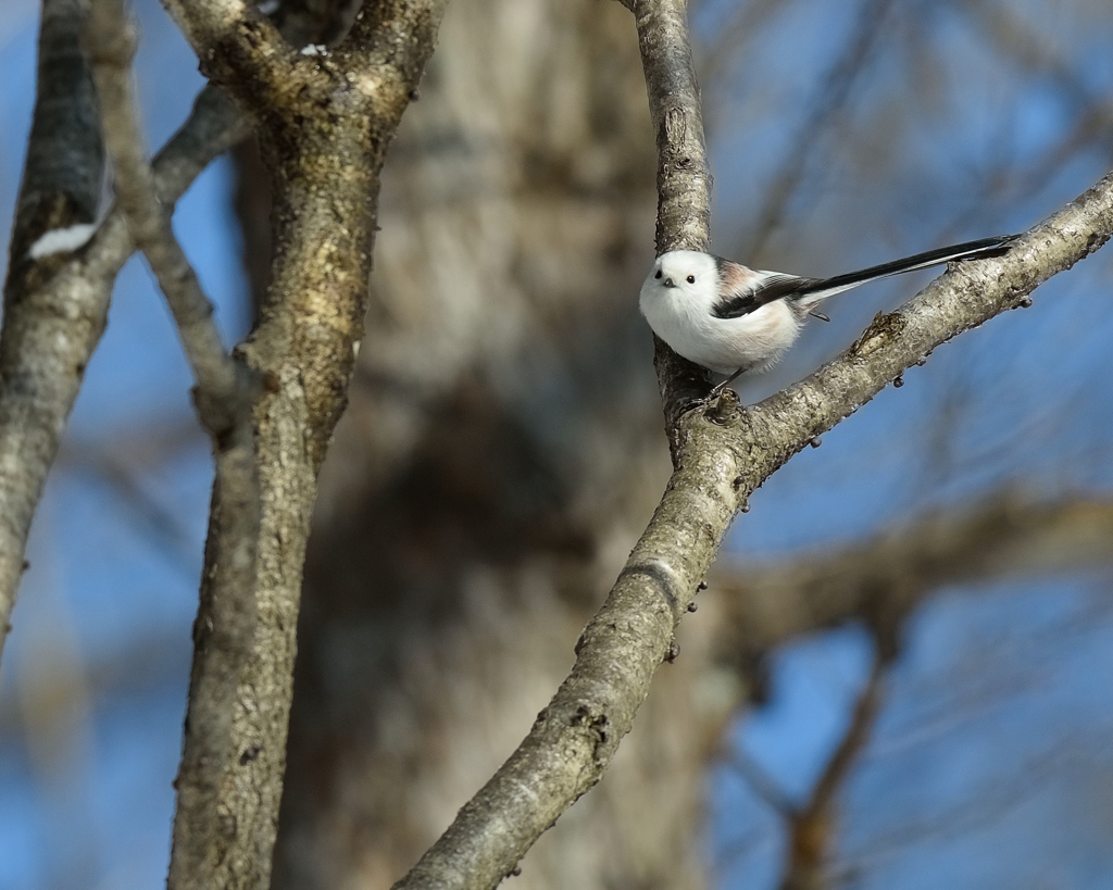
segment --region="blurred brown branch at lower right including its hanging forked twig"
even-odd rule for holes
[[[890,831],[871,842],[867,852],[851,856],[849,864],[836,858],[838,798],[868,743],[881,706],[887,668],[897,656],[897,637],[905,635],[912,612],[944,587],[985,586],[1011,578],[1107,568],[1113,565],[1111,542],[1113,502],[1064,498],[1048,503],[1006,491],[984,503],[975,501],[938,511],[874,541],[831,548],[825,554],[805,555],[764,570],[716,567],[711,576],[719,600],[715,617],[726,617],[727,626],[715,651],[742,666],[756,698],[766,694],[758,662],[788,640],[853,621],[875,629],[878,639],[869,676],[846,730],[806,803],[796,804],[777,779],[741,748],[723,755],[725,765],[743,777],[785,820],[789,838],[780,879],[782,890],[835,886],[850,871],[864,868],[870,858],[892,854],[892,848],[957,830],[942,818],[913,820],[899,834]],[[1107,611],[1107,593],[1102,597]],[[1095,617],[1091,615],[1086,623]],[[757,643],[760,639],[765,642]],[[742,651],[736,652],[732,647],[739,644]],[[954,679],[957,689],[971,682],[965,675]],[[982,711],[985,706],[984,701],[978,701],[973,709]],[[968,710],[969,705],[957,713]],[[955,702],[948,701],[945,712],[954,721]],[[920,722],[932,723],[933,719],[924,716]],[[1051,764],[1033,764],[1033,770],[1037,769],[1047,772]],[[1028,785],[1017,782],[978,794],[977,800],[963,804],[952,815],[962,824],[992,820],[999,817],[1002,808],[1014,805],[1028,793]],[[736,844],[731,856],[746,852],[751,843],[750,838],[742,847]]]

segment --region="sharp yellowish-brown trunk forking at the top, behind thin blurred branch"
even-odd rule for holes
[[[367,309],[378,175],[386,148],[433,51],[443,0],[398,0],[361,11],[336,47],[301,55],[253,8],[168,0],[201,60],[257,121],[275,198],[273,281],[239,352],[269,382],[254,404],[262,516],[254,645],[236,679],[236,711],[216,799],[188,769],[217,724],[186,726],[170,860],[171,888],[269,882],[296,647],[298,601],[316,474],[345,404]],[[228,571],[214,494],[205,575]],[[204,601],[197,626],[214,622]],[[196,637],[194,673],[217,653]],[[190,714],[213,713],[190,688]],[[195,793],[196,792],[196,793]],[[214,819],[214,813],[218,815]],[[214,830],[215,829],[215,830]],[[199,853],[198,856],[195,856]]]

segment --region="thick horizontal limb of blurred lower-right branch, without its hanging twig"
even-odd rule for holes
[[[1080,571],[1113,561],[1113,502],[1033,503],[1004,492],[789,566],[716,566],[721,656],[752,663],[802,634],[864,619],[900,622],[949,584]]]

